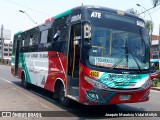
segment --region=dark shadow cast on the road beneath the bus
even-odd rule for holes
[[[21,81],[12,81],[12,83],[14,83],[15,85],[23,88]],[[25,89],[25,88],[23,88]],[[48,102],[53,103],[54,105],[56,105],[57,107],[62,108],[63,112],[60,111],[49,111],[48,113],[44,113],[44,114],[50,114],[50,116],[52,117],[82,117],[82,118],[112,118],[112,116],[109,115],[117,115],[120,113],[124,113],[124,114],[134,114],[134,113],[145,113],[146,111],[144,111],[143,109],[138,109],[135,107],[131,107],[128,105],[124,105],[124,104],[120,104],[120,105],[106,105],[106,106],[86,106],[86,105],[82,105],[79,104],[77,102],[73,101],[73,104],[70,108],[66,108],[62,105],[60,105],[58,103],[58,100],[53,99],[52,95],[53,93],[47,90],[44,90],[40,87],[34,86],[32,85],[30,89],[27,89],[28,91],[43,97],[45,100],[47,100]],[[54,101],[54,102],[53,102]],[[57,113],[58,112],[58,113]],[[105,116],[106,114],[108,114],[107,116]],[[119,116],[117,116],[119,117]]]

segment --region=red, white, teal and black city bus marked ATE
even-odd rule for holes
[[[53,92],[64,106],[145,102],[151,88],[148,38],[137,16],[78,6],[16,33],[11,73],[25,88]]]

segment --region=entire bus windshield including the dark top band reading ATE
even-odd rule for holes
[[[88,11],[92,25],[89,63],[109,69],[149,69],[149,40],[138,18]]]

